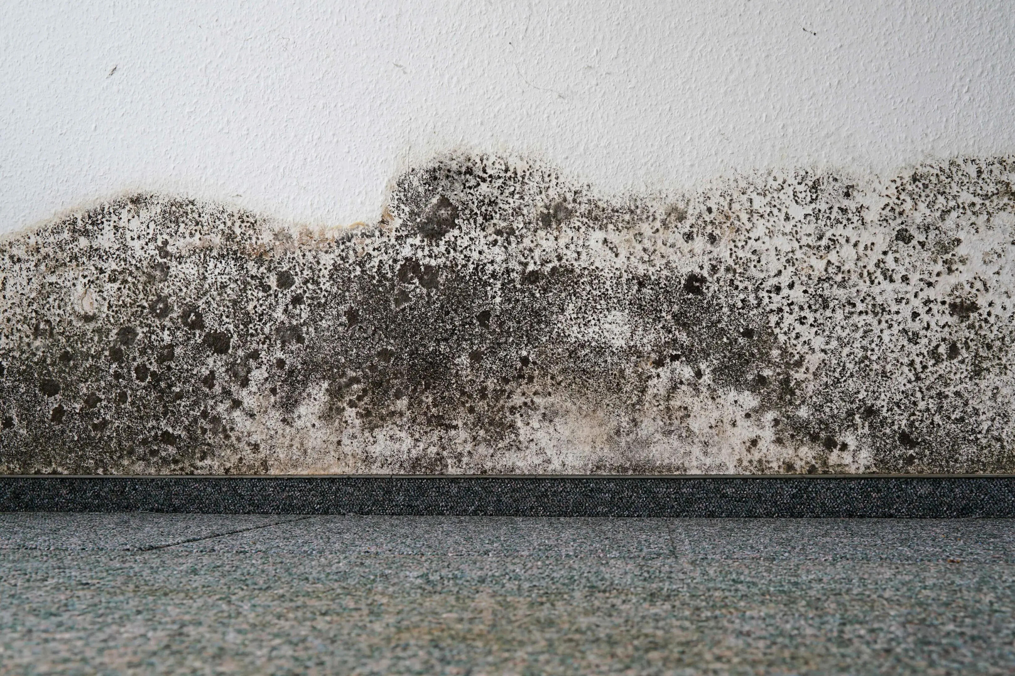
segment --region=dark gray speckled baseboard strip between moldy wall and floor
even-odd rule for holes
[[[1015,476],[0,476],[0,512],[1015,517]]]

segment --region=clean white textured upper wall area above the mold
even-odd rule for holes
[[[127,190],[371,220],[461,146],[608,189],[1010,153],[1013,55],[1000,0],[5,0],[0,231]]]

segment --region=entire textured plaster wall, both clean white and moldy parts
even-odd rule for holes
[[[1000,4],[17,5],[0,473],[1010,472]]]

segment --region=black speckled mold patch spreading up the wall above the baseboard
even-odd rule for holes
[[[1011,472],[1013,181],[456,154],[354,228],[113,200],[0,242],[0,472]]]

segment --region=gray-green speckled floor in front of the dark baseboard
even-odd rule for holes
[[[1015,673],[1015,521],[0,514],[0,674]]]

